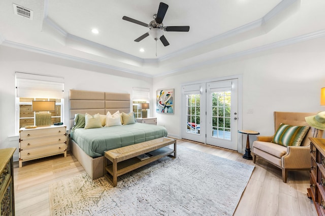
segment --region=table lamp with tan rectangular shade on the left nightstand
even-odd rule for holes
[[[36,126],[49,126],[52,124],[51,113],[49,111],[55,111],[55,101],[31,101],[31,111],[38,112],[35,114]]]

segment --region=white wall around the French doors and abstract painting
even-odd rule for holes
[[[243,120],[242,128],[273,135],[274,111],[325,111],[325,107],[319,105],[320,88],[325,86],[324,57],[325,39],[321,38],[233,58],[178,75],[156,77],[153,93],[160,88],[175,88],[175,114],[155,114],[157,123],[181,137],[181,85],[242,75],[243,115],[239,116]],[[253,109],[253,114],[247,114],[248,109]]]

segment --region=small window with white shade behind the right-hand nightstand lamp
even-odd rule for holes
[[[133,112],[136,118],[141,118],[141,110],[139,110],[139,103],[149,103],[149,91],[148,88],[133,87]],[[149,112],[149,110],[147,110]]]

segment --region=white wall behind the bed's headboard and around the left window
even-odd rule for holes
[[[152,89],[152,78],[0,46],[0,149],[10,147],[19,149],[18,137],[15,134],[16,71],[64,78],[63,123],[67,126],[69,126],[70,89],[130,94],[133,87]],[[17,150],[14,154],[15,159],[18,159]]]

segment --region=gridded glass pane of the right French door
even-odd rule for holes
[[[212,137],[231,140],[231,91],[213,92]]]

